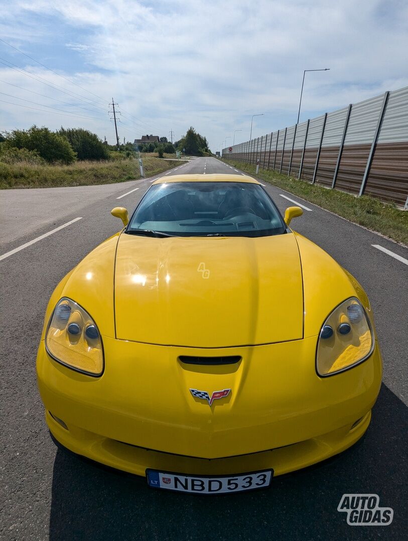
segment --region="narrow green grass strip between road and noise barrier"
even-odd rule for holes
[[[255,176],[256,168],[252,164],[229,160],[228,163]],[[256,177],[330,210],[359,226],[364,226],[408,246],[408,211],[406,210],[384,203],[375,197],[368,195],[354,197],[352,194],[340,192],[340,190],[328,190],[318,184],[297,180],[276,171],[260,169]]]

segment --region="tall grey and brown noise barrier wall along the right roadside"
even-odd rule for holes
[[[408,87],[235,144],[223,157],[408,207]]]

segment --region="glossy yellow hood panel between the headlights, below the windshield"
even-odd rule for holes
[[[267,237],[122,234],[116,338],[229,347],[301,339],[303,291],[292,233]]]

